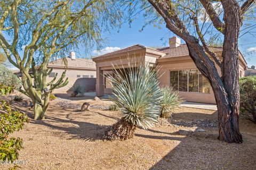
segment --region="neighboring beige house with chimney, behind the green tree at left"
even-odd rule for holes
[[[76,58],[75,52],[70,52],[69,57],[67,59],[67,67],[62,59],[58,59],[52,62],[49,62],[47,65],[47,69],[53,69],[47,78],[47,82],[50,82],[55,74],[58,73],[57,79],[60,78],[63,71],[67,70],[66,78],[68,78],[68,84],[65,87],[60,89],[55,89],[54,93],[63,93],[70,90],[74,84],[82,86],[85,91],[95,90],[95,83],[96,83],[96,66],[92,60],[85,59],[85,58]],[[21,75],[21,73],[17,73]],[[65,79],[66,79],[65,78]]]

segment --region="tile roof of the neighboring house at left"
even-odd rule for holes
[[[96,69],[96,65],[92,60],[85,59],[85,58],[76,58],[76,60],[72,60],[69,57],[66,57],[68,61],[68,67],[77,67],[77,68],[89,68],[89,69]],[[48,67],[64,67],[65,64],[63,63],[62,59],[58,59],[52,62],[49,62],[47,65]]]

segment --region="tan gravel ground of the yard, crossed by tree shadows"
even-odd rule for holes
[[[79,112],[85,101],[111,104],[91,99],[52,101],[44,121],[31,120],[13,134],[23,138],[19,160],[28,164],[20,165],[22,169],[255,169],[256,125],[247,120],[240,120],[244,142],[228,144],[217,140],[217,128],[200,124],[214,123],[216,112],[181,107],[173,114],[174,121],[161,119],[150,130],[138,128],[132,139],[111,142],[102,136],[107,126],[118,121],[118,112],[97,107]],[[12,106],[33,117],[31,108],[23,106],[27,103]],[[205,132],[194,132],[194,125]],[[0,169],[8,167],[0,165]]]

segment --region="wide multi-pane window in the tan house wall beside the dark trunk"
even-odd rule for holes
[[[210,93],[210,83],[197,70],[170,71],[170,86],[177,91]]]

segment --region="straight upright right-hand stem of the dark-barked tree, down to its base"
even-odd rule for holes
[[[220,110],[219,140],[242,143],[238,123],[240,107],[238,37],[242,21],[241,10],[235,1],[223,1],[222,5],[225,9],[226,23],[222,50],[222,81],[227,92],[228,103],[216,99],[218,110]]]

